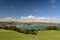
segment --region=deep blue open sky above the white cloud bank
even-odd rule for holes
[[[60,0],[0,0],[0,17],[60,16]]]

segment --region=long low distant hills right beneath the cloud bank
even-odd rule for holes
[[[0,22],[0,24],[14,24],[14,25],[21,25],[21,26],[27,26],[27,25],[60,25],[60,23],[49,23],[49,22],[18,22],[18,21],[4,21]]]

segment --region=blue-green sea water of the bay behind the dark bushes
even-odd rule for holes
[[[26,29],[35,29],[35,30],[44,30],[47,26],[17,26],[17,28],[26,30]],[[59,29],[60,26],[57,26]]]

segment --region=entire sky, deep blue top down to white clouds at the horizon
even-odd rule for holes
[[[0,21],[60,22],[60,0],[0,0]]]

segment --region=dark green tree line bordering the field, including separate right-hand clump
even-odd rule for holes
[[[11,26],[11,27],[3,26],[3,27],[0,27],[0,29],[14,30],[19,33],[32,34],[32,35],[37,35],[37,33],[39,31],[39,30],[35,30],[35,29],[22,30],[20,28],[16,28],[16,26]],[[56,26],[47,26],[44,30],[58,30],[58,28]]]

